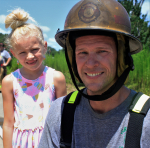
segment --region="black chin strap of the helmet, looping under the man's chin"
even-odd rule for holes
[[[103,100],[107,100],[108,98],[112,97],[123,86],[130,70],[132,70],[132,71],[134,70],[133,59],[131,57],[131,54],[128,52],[128,67],[124,70],[124,72],[117,79],[117,81],[107,91],[105,91],[103,94],[90,96],[90,95],[84,94],[82,92],[83,89],[79,90],[79,88],[77,86],[73,71],[71,69],[71,64],[69,62],[69,57],[68,57],[68,54],[67,54],[66,45],[65,45],[65,56],[66,56],[66,61],[67,61],[67,65],[68,65],[68,68],[69,68],[69,72],[71,74],[71,78],[72,78],[72,81],[73,81],[76,89],[79,91],[79,93],[81,93],[82,96],[84,96],[85,98],[87,98],[89,100],[93,100],[93,101],[103,101]]]

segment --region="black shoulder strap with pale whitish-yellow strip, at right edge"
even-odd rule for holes
[[[139,92],[129,108],[130,118],[125,140],[125,148],[140,148],[143,120],[150,109],[149,96]]]

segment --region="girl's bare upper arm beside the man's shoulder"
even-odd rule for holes
[[[54,86],[56,98],[67,95],[66,80],[62,72],[54,71]]]

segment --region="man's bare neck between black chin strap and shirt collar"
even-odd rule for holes
[[[129,96],[129,94],[130,90],[127,87],[122,86],[111,98],[104,101],[90,100],[90,105],[95,112],[101,114],[106,113],[120,105]]]

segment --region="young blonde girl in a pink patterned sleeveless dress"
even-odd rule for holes
[[[67,94],[64,75],[43,65],[47,42],[28,19],[33,20],[16,9],[5,20],[12,28],[7,44],[22,68],[2,81],[4,148],[37,148],[52,101]]]

